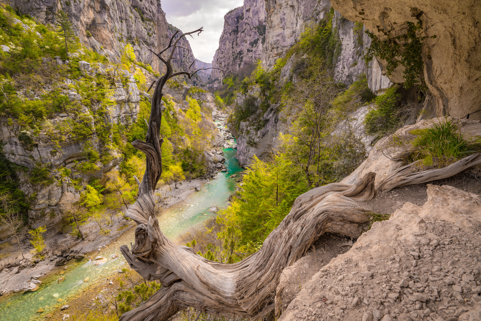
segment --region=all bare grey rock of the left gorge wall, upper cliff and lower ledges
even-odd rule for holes
[[[63,9],[69,14],[69,19],[73,23],[76,36],[87,47],[106,56],[112,64],[120,62],[120,56],[124,47],[130,43],[133,46],[136,59],[143,64],[151,64],[152,69],[162,72],[159,60],[153,59],[152,53],[146,46],[153,51],[159,51],[168,44],[167,35],[171,36],[177,28],[169,25],[165,20],[165,13],[162,11],[160,1],[58,1],[53,0],[12,0],[10,4],[21,13],[33,16],[38,24],[54,24],[55,13]],[[17,22],[20,22],[17,20]],[[25,32],[29,29],[23,24]],[[91,37],[87,37],[89,31]],[[40,36],[38,36],[40,37]],[[175,51],[173,60],[174,68],[177,70],[189,70],[190,64],[194,61],[194,56],[190,50],[189,41],[180,40],[180,46]],[[83,51],[69,52],[71,57],[83,55]],[[68,61],[54,57],[42,57],[42,64],[46,66],[65,65]],[[77,59],[78,60],[78,59]],[[94,77],[96,74],[112,77],[111,92],[108,99],[113,101],[107,107],[108,112],[102,116],[106,126],[128,125],[137,119],[140,106],[140,92],[134,79],[133,71],[116,68],[112,64],[89,64],[85,61],[79,62],[83,76]],[[203,62],[198,62],[202,64]],[[208,64],[206,64],[208,65]],[[130,73],[132,72],[132,73]],[[71,79],[70,79],[71,78]],[[109,143],[106,145],[99,142],[97,132],[97,122],[94,119],[96,110],[89,109],[82,104],[79,93],[74,89],[77,82],[84,82],[86,79],[80,77],[67,76],[58,82],[42,84],[36,90],[48,94],[51,90],[60,89],[60,93],[68,96],[70,102],[82,105],[81,116],[84,116],[89,123],[92,133],[88,137],[77,139],[75,137],[65,137],[62,141],[57,141],[50,137],[48,128],[39,133],[32,134],[26,131],[24,125],[13,118],[0,118],[0,152],[14,164],[23,167],[24,170],[18,171],[19,188],[30,197],[30,209],[28,210],[28,224],[31,228],[45,225],[48,234],[54,234],[62,228],[64,211],[62,203],[71,203],[78,200],[79,192],[74,188],[72,179],[81,179],[84,183],[92,179],[101,179],[103,174],[118,168],[122,160]],[[90,79],[90,78],[89,78]],[[90,79],[91,80],[91,79]],[[88,82],[88,80],[87,80]],[[201,81],[202,82],[202,81]],[[22,96],[22,90],[18,95]],[[77,102],[75,102],[77,101]],[[92,116],[93,115],[93,116]],[[62,127],[62,124],[76,121],[79,117],[75,113],[65,112],[56,113],[45,124],[51,124],[51,128]],[[60,125],[59,125],[60,124]],[[57,126],[59,125],[59,126]],[[99,130],[102,130],[99,128]],[[67,130],[68,131],[68,130]],[[29,143],[25,143],[23,136],[28,135]],[[110,137],[112,139],[112,137]],[[109,161],[97,161],[95,168],[89,171],[74,170],[77,165],[81,165],[86,160],[86,147],[95,153],[102,154],[101,151],[110,150]],[[33,184],[29,171],[34,167],[43,167],[49,170],[53,183]],[[59,167],[72,169],[74,173],[71,178],[62,177],[58,172]],[[8,238],[11,231],[0,227],[0,240]]]

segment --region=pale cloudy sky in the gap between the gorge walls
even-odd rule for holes
[[[194,56],[211,63],[219,47],[219,37],[224,28],[224,15],[241,6],[243,0],[162,0],[167,22],[183,32],[204,27],[204,32],[194,39],[188,37]]]

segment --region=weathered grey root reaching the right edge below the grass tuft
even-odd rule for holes
[[[409,171],[409,168],[414,164],[416,164],[416,162],[400,167],[388,174],[378,183],[376,191],[389,192],[393,188],[400,186],[420,184],[431,180],[441,180],[451,177],[469,167],[481,164],[481,153],[469,155],[447,167],[406,174],[405,172]]]

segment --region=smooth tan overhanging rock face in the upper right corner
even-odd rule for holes
[[[478,1],[333,0],[332,6],[347,19],[362,22],[380,39],[387,39],[387,31],[392,37],[404,34],[405,22],[422,22],[423,72],[431,95],[425,117],[461,118],[481,108]],[[393,82],[403,82],[400,71],[389,76]],[[469,119],[481,119],[481,112]]]

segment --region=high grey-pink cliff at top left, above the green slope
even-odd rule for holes
[[[76,36],[86,46],[105,55],[113,63],[118,62],[124,47],[130,43],[138,61],[150,64],[159,73],[163,64],[154,59],[152,52],[160,51],[168,44],[168,38],[177,28],[168,24],[160,0],[11,0],[11,5],[21,13],[35,17],[43,24],[53,24],[55,13],[62,9],[69,14]],[[200,26],[198,26],[200,27]],[[88,33],[87,33],[88,31]],[[190,30],[189,30],[190,31]],[[168,35],[168,36],[167,36]],[[194,55],[187,39],[180,40],[173,61],[177,70],[188,70]]]

